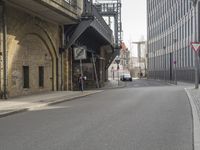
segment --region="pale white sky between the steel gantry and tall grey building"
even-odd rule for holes
[[[136,56],[137,45],[131,42],[146,40],[146,0],[122,0],[122,30],[123,41]]]

